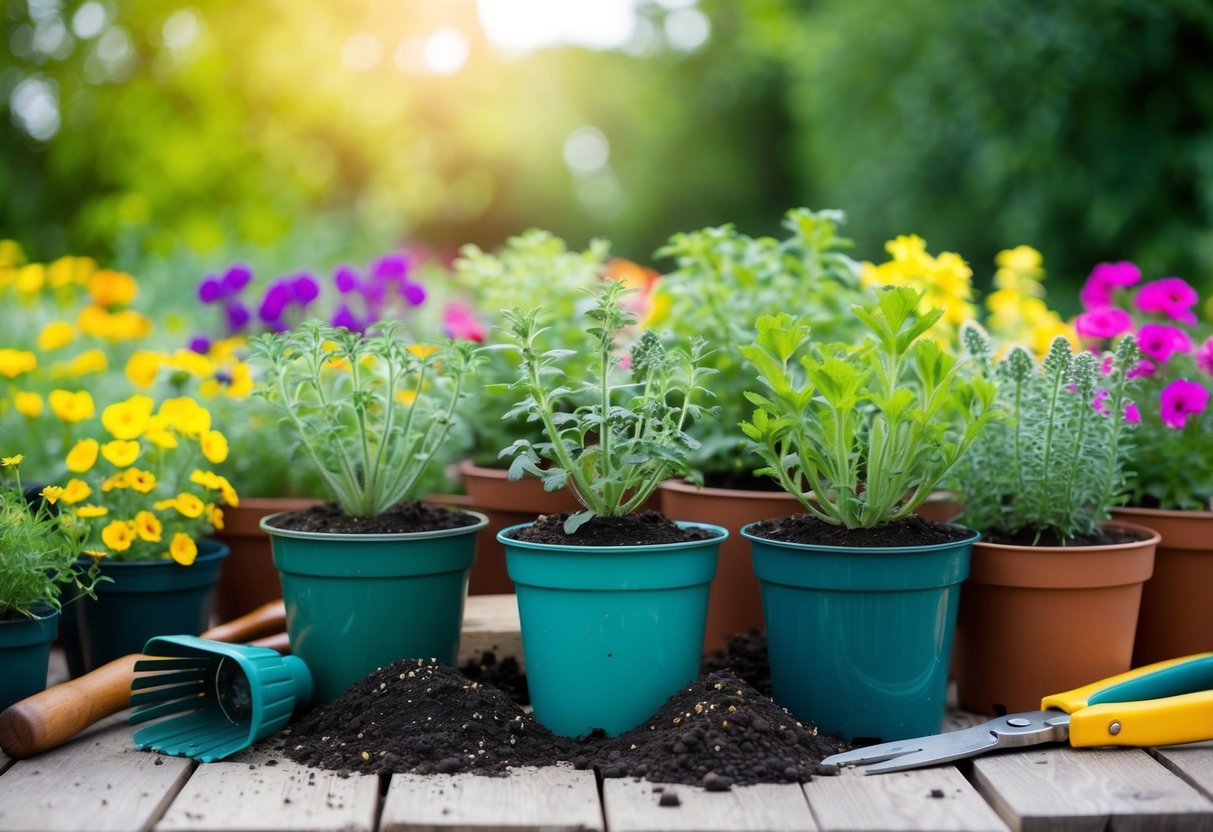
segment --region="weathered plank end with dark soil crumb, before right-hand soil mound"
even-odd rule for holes
[[[679,805],[664,807],[673,793]],[[734,786],[707,792],[699,786],[604,780],[603,811],[610,832],[792,832],[816,830],[804,792],[796,783]]]

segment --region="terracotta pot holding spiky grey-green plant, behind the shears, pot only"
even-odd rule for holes
[[[956,691],[974,713],[1035,711],[1041,699],[1132,667],[1141,585],[1158,535],[1109,546],[976,542],[961,589]]]

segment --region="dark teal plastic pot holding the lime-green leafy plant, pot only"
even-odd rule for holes
[[[845,740],[938,734],[961,582],[979,537],[852,548],[750,541],[775,701]]]

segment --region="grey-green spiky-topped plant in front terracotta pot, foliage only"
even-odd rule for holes
[[[1013,347],[997,364],[985,332],[962,329],[978,375],[997,384],[1009,418],[992,424],[957,468],[951,488],[961,522],[1006,540],[1066,542],[1098,531],[1127,492],[1124,461],[1137,417],[1129,371],[1140,351],[1133,336],[1110,359],[1071,353],[1058,337],[1044,359]]]

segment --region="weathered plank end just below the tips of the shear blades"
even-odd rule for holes
[[[843,769],[804,783],[804,794],[822,832],[1007,828],[951,765],[872,775]]]

